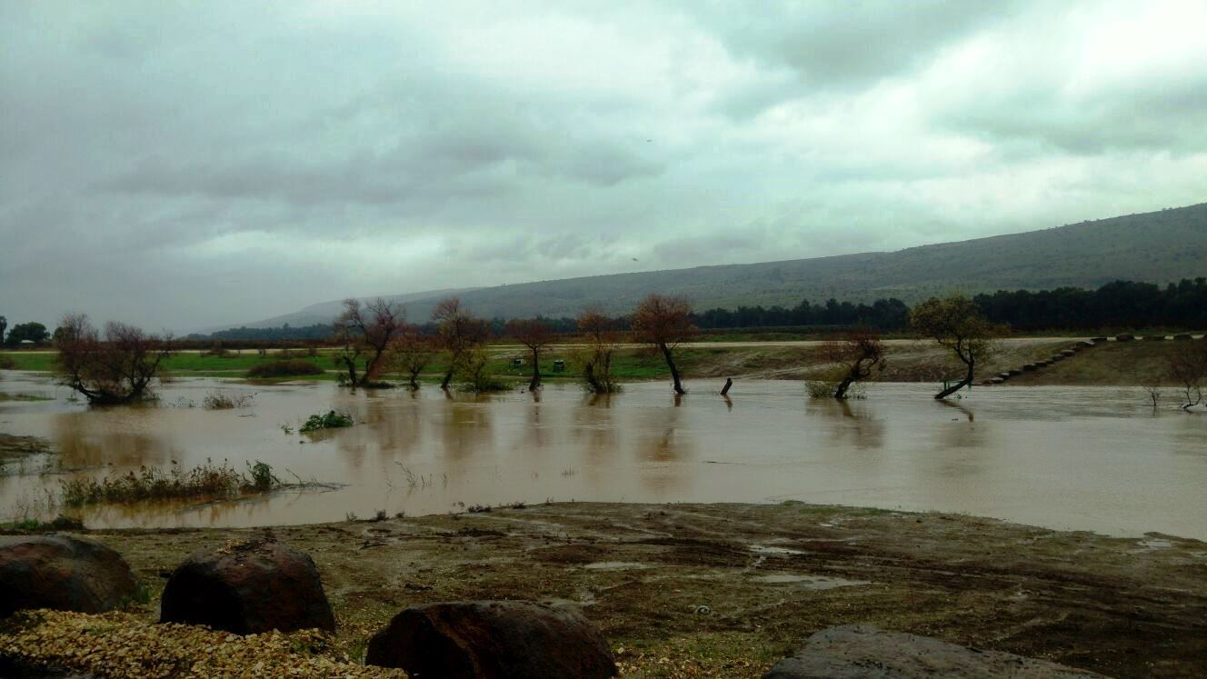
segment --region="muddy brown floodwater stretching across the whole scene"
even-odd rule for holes
[[[298,524],[547,499],[803,500],[1207,539],[1207,416],[1154,412],[1141,389],[976,388],[940,404],[928,384],[875,384],[865,400],[838,404],[809,400],[800,382],[737,382],[728,402],[719,384],[688,387],[676,401],[660,382],[611,397],[568,384],[448,397],[187,379],[161,389],[154,406],[89,408],[45,376],[8,372],[0,390],[53,400],[0,401],[0,431],[48,439],[70,474],[263,460],[285,481],[342,484],[86,510],[98,528]],[[202,408],[217,389],[255,397],[246,408]],[[297,433],[330,410],[357,424]],[[39,474],[43,462],[8,465],[0,517],[45,513],[64,476]]]

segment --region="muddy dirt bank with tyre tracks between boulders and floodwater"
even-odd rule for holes
[[[153,620],[189,551],[262,532],[91,536],[151,588],[133,622]],[[581,607],[637,677],[756,677],[856,622],[1109,675],[1207,675],[1207,544],[1165,535],[803,504],[555,504],[273,533],[322,571],[333,657],[356,657],[402,608],[509,598]]]

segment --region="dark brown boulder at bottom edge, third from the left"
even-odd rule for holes
[[[616,677],[607,642],[582,615],[525,602],[409,608],[369,640],[367,665],[412,677]]]

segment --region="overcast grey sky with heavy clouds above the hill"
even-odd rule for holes
[[[1203,1],[0,0],[10,325],[179,331],[1203,201]]]

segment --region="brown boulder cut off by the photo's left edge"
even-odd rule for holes
[[[104,613],[138,585],[113,550],[66,535],[0,538],[0,617],[30,608]]]

